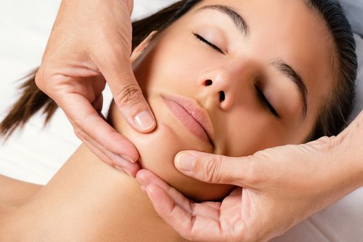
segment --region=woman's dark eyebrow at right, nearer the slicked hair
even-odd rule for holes
[[[283,75],[288,77],[288,79],[294,82],[295,86],[297,86],[301,97],[300,99],[302,104],[302,117],[305,119],[306,114],[308,113],[308,89],[306,89],[303,78],[290,65],[286,64],[281,59],[274,60],[272,62],[272,66],[277,68],[277,70],[279,70]]]

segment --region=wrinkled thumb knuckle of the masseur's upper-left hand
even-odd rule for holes
[[[137,84],[127,84],[122,86],[115,95],[115,102],[121,106],[129,106],[141,100],[142,93]]]

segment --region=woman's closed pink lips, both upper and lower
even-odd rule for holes
[[[197,138],[212,145],[213,129],[210,116],[196,100],[187,97],[162,95],[170,111],[176,115]]]

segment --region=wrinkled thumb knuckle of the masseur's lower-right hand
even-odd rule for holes
[[[222,156],[212,156],[203,163],[203,180],[207,183],[221,182]]]

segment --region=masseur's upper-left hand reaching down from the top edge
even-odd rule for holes
[[[64,110],[75,133],[109,165],[140,169],[134,145],[106,123],[102,91],[109,84],[127,122],[147,133],[156,122],[131,65],[132,0],[64,0],[35,81]]]

